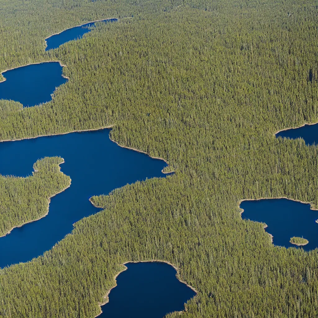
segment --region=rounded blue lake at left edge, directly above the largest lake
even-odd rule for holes
[[[0,83],[0,99],[19,101],[23,107],[35,106],[52,100],[55,88],[67,82],[62,77],[59,62],[21,66],[6,71]]]

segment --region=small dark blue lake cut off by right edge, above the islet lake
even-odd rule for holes
[[[299,128],[291,128],[276,134],[276,137],[286,137],[290,139],[302,138],[307,145],[318,143],[318,124],[305,125]]]

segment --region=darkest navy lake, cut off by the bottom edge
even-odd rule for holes
[[[176,270],[160,262],[128,263],[116,279],[99,318],[162,318],[184,310],[196,293],[176,278]]]

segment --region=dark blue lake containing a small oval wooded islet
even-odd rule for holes
[[[293,236],[304,237],[309,243],[302,246],[306,251],[318,247],[318,211],[310,210],[310,204],[288,199],[263,199],[243,201],[243,219],[264,222],[268,225],[266,232],[273,235],[275,245],[296,247],[289,243]]]

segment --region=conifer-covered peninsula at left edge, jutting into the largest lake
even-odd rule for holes
[[[60,157],[45,157],[34,163],[31,176],[0,176],[0,236],[45,216],[50,197],[71,182],[60,172],[63,162]]]

